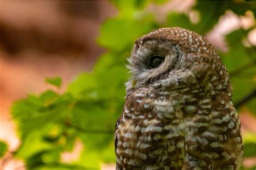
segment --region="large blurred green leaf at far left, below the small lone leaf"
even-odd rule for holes
[[[40,130],[45,125],[63,120],[73,104],[69,93],[58,96],[46,91],[41,96],[28,96],[12,106],[12,117],[17,121],[21,136],[31,131]]]

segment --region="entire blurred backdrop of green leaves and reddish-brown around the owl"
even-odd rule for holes
[[[0,169],[115,169],[126,58],[161,27],[206,36],[230,72],[256,167],[255,1],[0,2]]]

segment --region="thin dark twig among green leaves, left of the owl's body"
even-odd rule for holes
[[[88,134],[114,134],[113,130],[95,130],[95,129],[88,129],[88,128],[83,128],[83,127],[79,127],[77,125],[73,125],[71,123],[65,122],[64,123],[65,126],[73,128],[79,132],[82,133],[88,133]]]

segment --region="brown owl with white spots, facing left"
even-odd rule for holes
[[[238,169],[243,146],[232,86],[206,38],[161,28],[128,59],[124,110],[114,133],[116,169]]]

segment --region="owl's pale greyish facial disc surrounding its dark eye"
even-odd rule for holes
[[[178,61],[178,53],[176,47],[170,42],[147,40],[134,45],[128,60],[132,84],[145,84],[174,69]]]

